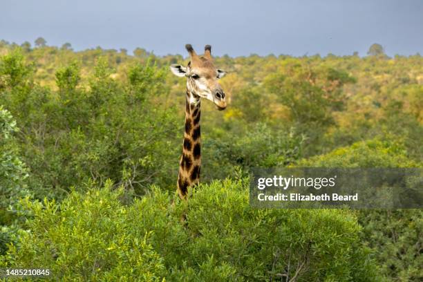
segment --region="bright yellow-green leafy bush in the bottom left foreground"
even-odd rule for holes
[[[110,188],[107,182],[104,190],[86,196],[73,193],[60,206],[24,200],[33,217],[31,232],[10,247],[12,265],[47,267],[64,281],[161,281],[164,267],[148,243],[151,234],[136,232],[120,194]]]

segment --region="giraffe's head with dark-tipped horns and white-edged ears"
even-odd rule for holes
[[[171,71],[178,77],[187,77],[187,90],[198,100],[198,97],[212,101],[217,109],[226,108],[225,92],[218,83],[218,79],[225,75],[225,71],[216,68],[212,59],[212,46],[205,46],[205,53],[199,56],[192,48],[191,44],[185,45],[191,57],[188,66],[178,64],[171,65]]]

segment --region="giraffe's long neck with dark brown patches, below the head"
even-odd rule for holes
[[[187,196],[188,187],[200,182],[201,133],[200,97],[187,90],[185,106],[185,133],[179,162],[178,194]]]

